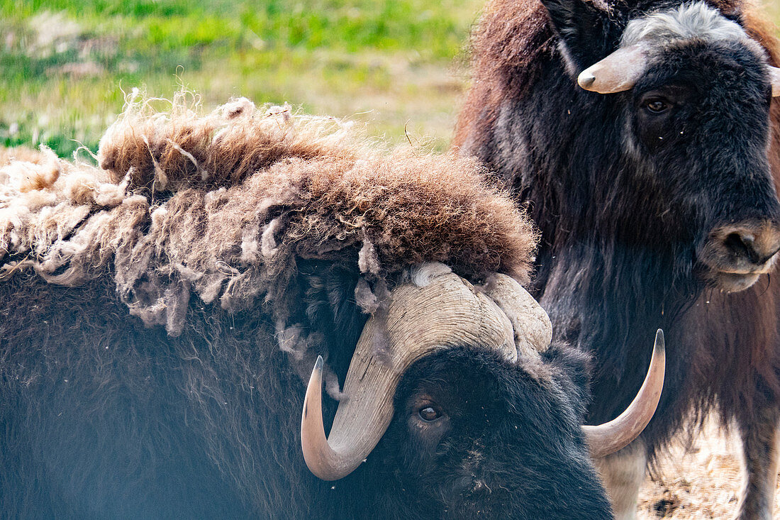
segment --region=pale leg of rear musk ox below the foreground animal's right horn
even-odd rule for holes
[[[594,462],[612,502],[615,520],[635,520],[639,488],[647,466],[644,442],[637,439],[622,450]]]

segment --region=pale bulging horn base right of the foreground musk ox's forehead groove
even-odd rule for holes
[[[511,276],[496,273],[481,287],[512,322],[518,353],[537,356],[552,340],[550,317]]]

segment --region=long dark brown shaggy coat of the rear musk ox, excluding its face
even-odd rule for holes
[[[639,13],[681,2],[594,3],[612,9],[619,27]],[[750,4],[708,3],[737,20],[765,49],[771,65],[780,65],[773,30]],[[615,49],[620,33],[605,30],[603,36],[604,41],[592,43],[604,46],[601,57]],[[665,206],[670,198],[666,187],[659,190],[647,179],[637,180],[639,175],[622,173],[622,144],[612,123],[621,115],[602,110],[608,96],[596,98],[576,86],[576,74],[564,69],[558,42],[538,0],[489,2],[473,34],[473,87],[459,116],[455,144],[495,170],[541,229],[536,294],[557,337],[597,354],[590,418],[611,418],[631,398],[647,364],[642,338],[660,326],[670,354],[661,405],[644,434],[651,453],[681,426],[692,406],[703,415],[717,404],[724,423],[736,418],[746,431],[750,425],[768,425],[744,437],[746,451],[764,457],[756,453],[757,446],[771,444],[770,425],[778,418],[780,398],[780,284],[764,276],[736,294],[707,289],[697,277],[693,254],[703,239],[693,236],[698,231],[687,227],[687,216],[675,213],[684,204]],[[766,125],[738,119],[735,115],[723,124],[733,123],[735,129]],[[777,187],[778,98],[771,101],[770,124],[768,159]],[[698,159],[692,157],[690,164]],[[753,194],[744,197],[713,211],[743,208],[735,214],[748,218],[751,211],[765,209],[764,199],[750,207]],[[776,206],[775,195],[770,198]]]

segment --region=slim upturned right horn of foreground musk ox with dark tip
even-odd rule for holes
[[[650,419],[653,418],[661,390],[664,388],[664,372],[666,366],[666,349],[664,331],[658,329],[655,333],[653,357],[644,383],[636,394],[629,408],[610,422],[599,426],[583,426],[585,438],[594,458],[605,457],[626,447],[636,439]]]

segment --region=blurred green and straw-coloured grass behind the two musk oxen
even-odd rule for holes
[[[775,20],[780,2],[768,0]],[[124,91],[231,96],[449,143],[484,0],[0,0],[0,144],[93,150]]]

